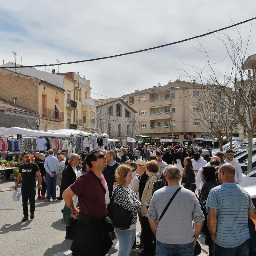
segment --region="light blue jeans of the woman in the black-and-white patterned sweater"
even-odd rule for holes
[[[136,236],[136,228],[132,230],[115,230],[119,243],[118,256],[129,256]]]

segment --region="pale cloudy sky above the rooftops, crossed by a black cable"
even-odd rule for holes
[[[86,60],[168,44],[227,27],[256,16],[254,1],[3,1],[0,8],[0,58],[22,65]],[[252,24],[252,29],[250,26]],[[256,20],[228,29],[239,30],[243,42],[250,35],[248,55],[256,52]],[[204,67],[206,55],[215,68],[225,70],[227,52],[217,38],[205,36],[160,49],[113,59],[59,66],[59,72],[79,72],[91,81],[92,98],[120,97],[176,78],[183,71]],[[46,67],[58,71],[58,66]],[[44,70],[44,68],[38,68]],[[104,95],[100,96],[100,95]]]

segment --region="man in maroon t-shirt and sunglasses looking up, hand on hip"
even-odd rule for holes
[[[102,222],[108,214],[105,200],[107,188],[102,174],[107,166],[107,157],[96,149],[88,153],[85,162],[89,171],[77,178],[62,194],[66,205],[72,210],[72,217],[78,218],[71,251],[73,255],[85,255],[85,251],[86,255],[106,255],[105,249],[108,251],[113,244],[108,233],[104,233]],[[74,195],[78,196],[79,208],[73,204]]]

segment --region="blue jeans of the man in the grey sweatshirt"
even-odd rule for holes
[[[156,242],[156,256],[193,256],[195,244],[165,244]]]

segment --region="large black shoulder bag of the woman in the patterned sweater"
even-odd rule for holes
[[[116,191],[108,204],[108,217],[112,220],[115,229],[126,230],[132,224],[132,212],[114,202],[115,194]]]

